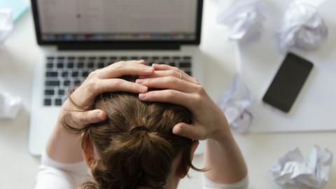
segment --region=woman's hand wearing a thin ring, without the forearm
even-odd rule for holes
[[[165,64],[153,64],[153,67],[153,75],[141,77],[136,83],[165,90],[142,92],[139,99],[185,106],[194,116],[193,125],[179,123],[173,129],[174,134],[194,140],[220,140],[230,130],[224,113],[195,78]]]

